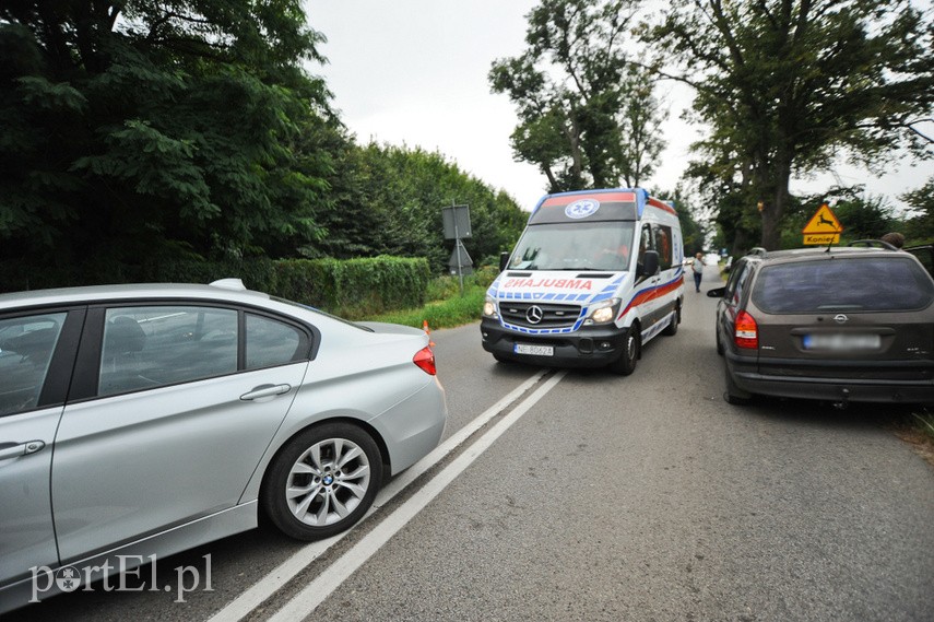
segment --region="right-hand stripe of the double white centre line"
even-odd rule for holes
[[[359,568],[374,553],[389,541],[400,529],[405,527],[428,503],[448,486],[464,469],[478,458],[509,427],[519,421],[540,399],[565,377],[561,371],[552,376],[529,399],[503,418],[486,434],[468,447],[450,465],[428,481],[418,492],[409,497],[392,514],[382,519],[369,533],[344,553],[318,578],[309,583],[285,607],[269,618],[270,622],[293,622],[307,618],[326,598],[336,590],[347,577]]]

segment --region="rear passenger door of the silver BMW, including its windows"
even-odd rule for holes
[[[94,308],[52,473],[62,563],[237,504],[302,384],[310,336],[199,303]],[[246,342],[240,335],[246,331]]]

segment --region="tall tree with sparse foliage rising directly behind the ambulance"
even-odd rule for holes
[[[516,156],[551,191],[638,185],[653,171],[664,113],[646,71],[627,62],[637,9],[637,0],[542,0],[525,52],[492,66],[493,91],[518,108]]]

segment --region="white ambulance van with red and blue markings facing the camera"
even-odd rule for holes
[[[629,375],[642,347],[675,335],[684,303],[677,213],[641,188],[539,201],[483,307],[483,348],[500,362]]]

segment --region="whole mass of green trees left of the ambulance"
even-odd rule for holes
[[[88,282],[185,258],[440,270],[452,200],[474,257],[508,245],[524,216],[506,195],[438,154],[355,144],[305,69],[323,40],[299,0],[5,0],[0,260],[81,262]]]

